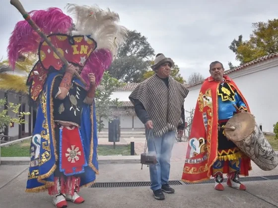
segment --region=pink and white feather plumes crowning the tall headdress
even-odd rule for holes
[[[105,11],[97,6],[68,4],[67,11],[70,16],[55,7],[46,10],[34,10],[29,12],[29,15],[47,36],[68,34],[87,36],[95,40],[97,48],[89,55],[80,76],[89,86],[87,74],[92,72],[95,74],[96,84],[99,85],[104,71],[110,67],[117,55],[119,46],[126,38],[127,29],[117,24],[119,15],[109,9]],[[14,68],[15,62],[22,56],[37,55],[39,58],[38,50],[42,42],[42,38],[27,21],[18,22],[7,48],[11,67]],[[34,66],[34,68],[38,70],[42,67]]]

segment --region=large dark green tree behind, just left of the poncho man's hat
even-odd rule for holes
[[[147,38],[136,30],[129,31],[109,72],[112,77],[123,82],[138,83],[142,74],[149,68],[149,59],[153,55],[154,50],[147,42]]]

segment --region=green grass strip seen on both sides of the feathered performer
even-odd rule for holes
[[[10,145],[8,147],[1,147],[2,157],[30,156],[29,152],[30,152],[30,140],[25,140],[24,142],[15,145]],[[126,146],[116,145],[116,149],[113,149],[113,145],[99,146],[98,155],[99,156],[109,156],[109,155],[130,156],[130,145],[126,145]]]

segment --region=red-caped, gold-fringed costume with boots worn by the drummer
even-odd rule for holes
[[[182,180],[198,182],[215,178],[215,189],[223,190],[223,174],[228,186],[244,190],[238,175],[248,176],[251,160],[228,140],[222,128],[240,110],[250,112],[247,101],[228,76],[224,82],[207,78],[196,104]]]

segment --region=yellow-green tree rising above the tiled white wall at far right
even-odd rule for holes
[[[229,46],[240,64],[278,52],[278,19],[252,23],[252,26],[254,30],[248,41],[243,41],[240,35]]]

